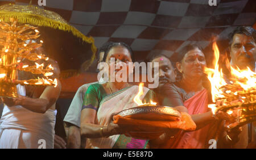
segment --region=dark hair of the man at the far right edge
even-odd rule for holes
[[[254,42],[256,40],[256,31],[253,27],[250,26],[240,26],[234,29],[231,33],[229,33],[229,45],[232,44],[234,34],[245,34],[246,36],[250,36],[253,38]]]

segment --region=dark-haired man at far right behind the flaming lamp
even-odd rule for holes
[[[247,67],[255,71],[256,60],[256,32],[252,27],[237,27],[229,34],[230,64],[241,70]],[[255,122],[242,126],[236,148],[256,148]]]

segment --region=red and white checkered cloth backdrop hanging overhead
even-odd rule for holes
[[[27,5],[30,0],[0,0],[0,5]],[[32,1],[38,6],[38,0]],[[213,37],[226,47],[226,37],[239,25],[255,23],[255,0],[46,0],[46,10],[55,11],[86,36],[96,47],[107,41],[130,45],[135,60],[151,50],[170,58],[186,44],[210,51]]]

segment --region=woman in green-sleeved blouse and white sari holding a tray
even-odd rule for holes
[[[110,58],[115,58],[114,63],[123,62],[129,71],[129,62],[132,62],[132,51],[124,43],[114,43],[109,46],[104,55],[104,61],[111,65]],[[110,70],[109,75],[114,76],[119,70]],[[122,75],[123,76],[123,75]],[[127,82],[108,82],[105,84],[90,85],[85,93],[84,105],[81,111],[81,136],[88,138],[92,148],[146,148],[147,140],[137,140],[123,135],[125,128],[113,123],[113,114],[119,111],[137,107],[133,101],[138,93],[138,85]],[[154,99],[154,93],[144,87],[144,100]]]

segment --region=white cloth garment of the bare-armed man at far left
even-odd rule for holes
[[[17,85],[26,96],[25,87]],[[22,106],[4,105],[0,120],[0,148],[53,148],[56,110],[34,113]]]

